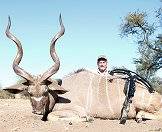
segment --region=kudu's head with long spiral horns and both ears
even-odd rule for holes
[[[60,67],[60,60],[55,51],[56,41],[64,34],[65,28],[62,23],[61,14],[59,17],[61,30],[54,36],[50,44],[50,55],[55,64],[39,76],[32,76],[19,66],[19,63],[23,57],[23,48],[20,41],[10,32],[11,19],[8,18],[8,26],[6,29],[6,35],[9,39],[15,42],[17,46],[17,55],[13,61],[13,70],[18,75],[23,77],[26,81],[20,85],[14,85],[4,90],[11,93],[19,93],[26,90],[29,93],[32,109],[34,114],[43,114],[42,120],[47,120],[47,115],[52,111],[55,106],[58,95],[67,92],[55,81],[51,81],[50,77],[54,75]],[[49,86],[52,85],[51,89]]]

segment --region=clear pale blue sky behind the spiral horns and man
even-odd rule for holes
[[[151,16],[161,4],[160,0],[0,0],[0,84],[18,80],[12,69],[16,46],[4,34],[8,15],[11,31],[24,49],[20,66],[38,75],[53,64],[49,44],[60,29],[62,14],[66,31],[56,46],[61,67],[53,76],[62,78],[78,68],[96,69],[100,54],[108,57],[109,70],[121,66],[135,70],[137,45],[131,38],[120,38],[120,24],[131,11],[139,9]],[[162,77],[162,72],[158,75]]]

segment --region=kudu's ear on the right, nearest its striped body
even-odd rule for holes
[[[56,92],[57,94],[64,94],[64,93],[68,92],[68,90],[61,87],[59,85],[59,82],[57,82],[56,80],[51,81],[51,79],[50,80],[48,79],[48,81],[51,82],[51,84],[48,85],[49,89]]]

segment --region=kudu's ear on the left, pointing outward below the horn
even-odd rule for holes
[[[15,85],[6,87],[3,90],[8,91],[8,92],[13,93],[13,94],[17,94],[17,93],[20,93],[20,92],[26,90],[27,87],[28,86],[21,83],[21,84],[15,84]]]

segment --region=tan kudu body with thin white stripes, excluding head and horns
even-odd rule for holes
[[[61,86],[69,89],[69,92],[61,96],[68,98],[71,103],[57,103],[48,120],[78,121],[84,120],[84,117],[86,120],[89,117],[120,119],[127,79],[123,78],[123,75],[115,75],[113,78],[110,80],[107,76],[87,70],[65,76]],[[128,118],[136,118],[138,122],[142,119],[162,119],[162,95],[157,92],[150,93],[139,81],[135,85],[136,91],[132,97]]]

